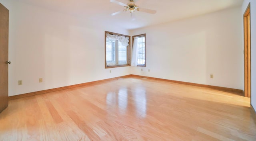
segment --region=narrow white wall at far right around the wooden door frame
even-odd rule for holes
[[[251,104],[256,108],[256,1],[244,0],[242,5],[242,12],[240,14],[243,17],[244,12],[250,2],[250,16],[251,16]],[[241,27],[242,28],[242,27]]]

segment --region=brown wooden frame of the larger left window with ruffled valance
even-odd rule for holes
[[[129,45],[128,45],[128,47],[127,47],[127,64],[125,64],[125,65],[107,65],[107,55],[106,55],[106,37],[107,37],[107,33],[108,34],[112,34],[112,35],[120,35],[120,36],[124,36],[124,37],[128,37],[129,38]],[[131,66],[131,64],[130,64],[130,47],[131,47],[131,45],[130,45],[130,42],[131,42],[131,36],[128,36],[128,35],[123,35],[123,34],[119,34],[119,33],[114,33],[114,32],[109,32],[109,31],[105,31],[105,69],[108,69],[108,68],[116,68],[116,67],[127,67],[127,66]],[[118,48],[118,47],[117,47]],[[116,52],[116,57],[118,57],[118,52]],[[118,61],[118,59],[116,59],[117,61]],[[118,62],[117,62],[118,63]]]

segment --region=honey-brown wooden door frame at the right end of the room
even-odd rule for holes
[[[251,97],[251,23],[250,3],[244,12],[244,96]]]

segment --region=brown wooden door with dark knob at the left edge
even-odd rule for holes
[[[8,106],[9,10],[0,3],[0,112]]]

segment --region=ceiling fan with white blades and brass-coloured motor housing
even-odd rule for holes
[[[113,2],[113,3],[118,4],[120,6],[124,6],[125,9],[123,11],[125,11],[125,12],[130,11],[130,13],[132,13],[132,12],[135,12],[137,10],[139,12],[146,12],[146,13],[149,13],[149,14],[156,14],[156,10],[140,8],[139,6],[137,6],[135,4],[134,0],[129,0],[129,1],[130,2],[128,2],[127,4],[124,4],[124,3],[119,2],[117,0],[110,0],[110,2]],[[112,13],[111,15],[114,16],[114,15],[119,14],[119,13],[121,13],[121,11]]]

